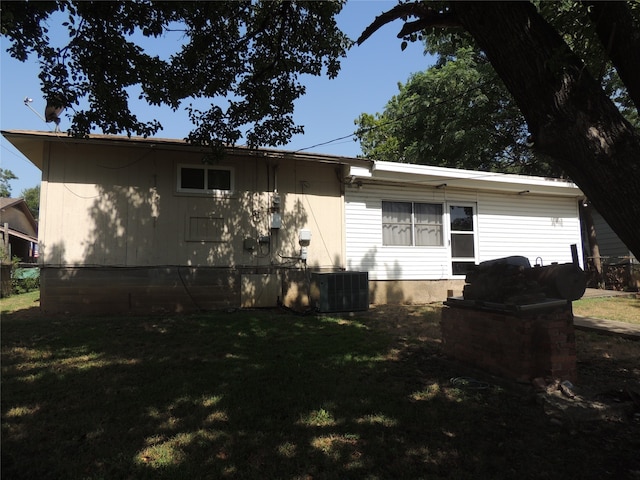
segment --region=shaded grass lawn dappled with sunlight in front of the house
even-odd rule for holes
[[[596,478],[640,468],[633,445],[603,451],[602,432],[553,427],[529,397],[453,387],[459,371],[432,338],[404,344],[366,318],[7,315],[2,475]]]

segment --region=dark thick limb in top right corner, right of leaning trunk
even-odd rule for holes
[[[600,42],[640,112],[640,25],[626,2],[584,2]],[[636,52],[635,54],[632,52]]]

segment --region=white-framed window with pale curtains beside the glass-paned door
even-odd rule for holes
[[[382,202],[382,244],[440,247],[442,205]]]

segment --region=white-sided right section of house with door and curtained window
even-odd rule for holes
[[[471,265],[524,256],[531,265],[582,259],[573,183],[492,172],[375,162],[351,167],[347,268],[369,272],[380,303],[441,301]]]

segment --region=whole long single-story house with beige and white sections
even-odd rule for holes
[[[2,133],[42,170],[45,311],[304,309],[318,295],[361,289],[363,272],[367,302],[422,303],[460,292],[469,265],[486,259],[570,262],[574,244],[581,257],[583,194],[564,181],[181,140]]]

